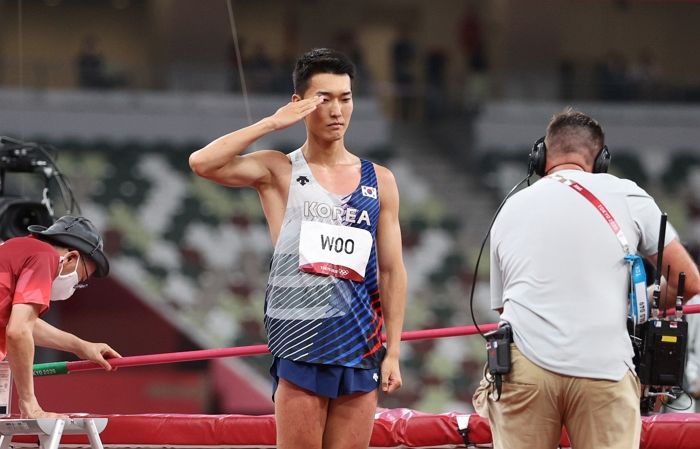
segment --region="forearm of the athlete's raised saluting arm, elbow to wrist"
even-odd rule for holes
[[[256,140],[275,131],[277,128],[270,117],[219,137],[201,150],[190,155],[192,170],[199,176],[208,177],[223,168]]]

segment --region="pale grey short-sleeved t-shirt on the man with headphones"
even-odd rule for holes
[[[661,211],[635,183],[608,174],[557,172],[612,213],[631,251],[656,254]],[[666,230],[665,245],[674,238]],[[549,178],[510,198],[491,231],[491,306],[513,326],[518,349],[564,375],[620,380],[632,369],[629,269],[598,210]]]

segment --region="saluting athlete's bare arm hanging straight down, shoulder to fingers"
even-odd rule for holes
[[[401,248],[399,225],[399,190],[394,175],[376,166],[379,187],[379,223],[377,225],[377,259],[379,292],[386,329],[387,353],[382,362],[382,390],[391,393],[401,388],[399,369],[401,330],[406,307],[406,268]]]

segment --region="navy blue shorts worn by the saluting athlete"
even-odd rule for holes
[[[367,393],[381,384],[379,368],[349,368],[337,365],[293,362],[275,357],[270,367],[272,399],[280,377],[317,396],[335,399],[353,393]]]

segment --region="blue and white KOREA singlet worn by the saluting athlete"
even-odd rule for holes
[[[287,209],[265,294],[265,328],[276,357],[376,368],[384,347],[377,280],[379,192],[362,160],[350,195],[324,189],[301,149],[291,154]]]

